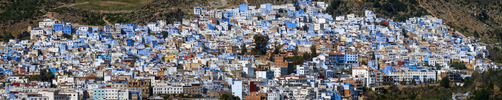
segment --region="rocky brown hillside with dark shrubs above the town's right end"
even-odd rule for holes
[[[314,0],[315,1],[315,0]],[[324,0],[320,0],[324,1]],[[481,38],[481,42],[499,43],[502,27],[501,0],[330,0],[325,11],[334,16],[374,10],[378,17],[405,21],[410,17],[433,15],[466,36]]]

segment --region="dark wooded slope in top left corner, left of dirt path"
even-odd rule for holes
[[[74,3],[73,0],[0,0],[0,38],[14,37],[27,30],[29,26],[38,26],[45,10]],[[14,36],[10,36],[14,35]],[[7,38],[5,39],[7,40]]]

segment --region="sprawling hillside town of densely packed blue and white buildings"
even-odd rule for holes
[[[299,0],[218,9],[180,21],[74,26],[47,18],[0,46],[3,99],[364,99],[365,89],[462,85],[500,69],[485,44],[431,15],[405,22],[322,13]],[[464,99],[469,93],[452,94]]]

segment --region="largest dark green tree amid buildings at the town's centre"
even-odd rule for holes
[[[256,55],[267,54],[267,44],[269,43],[269,36],[257,34],[253,37],[255,40],[255,48],[253,48],[253,53]]]

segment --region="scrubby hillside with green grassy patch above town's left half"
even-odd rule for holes
[[[95,26],[105,25],[105,20],[135,24],[174,21],[191,15],[185,14],[191,12],[187,9],[202,5],[208,5],[207,0],[0,0],[0,34],[17,37],[45,18]]]

